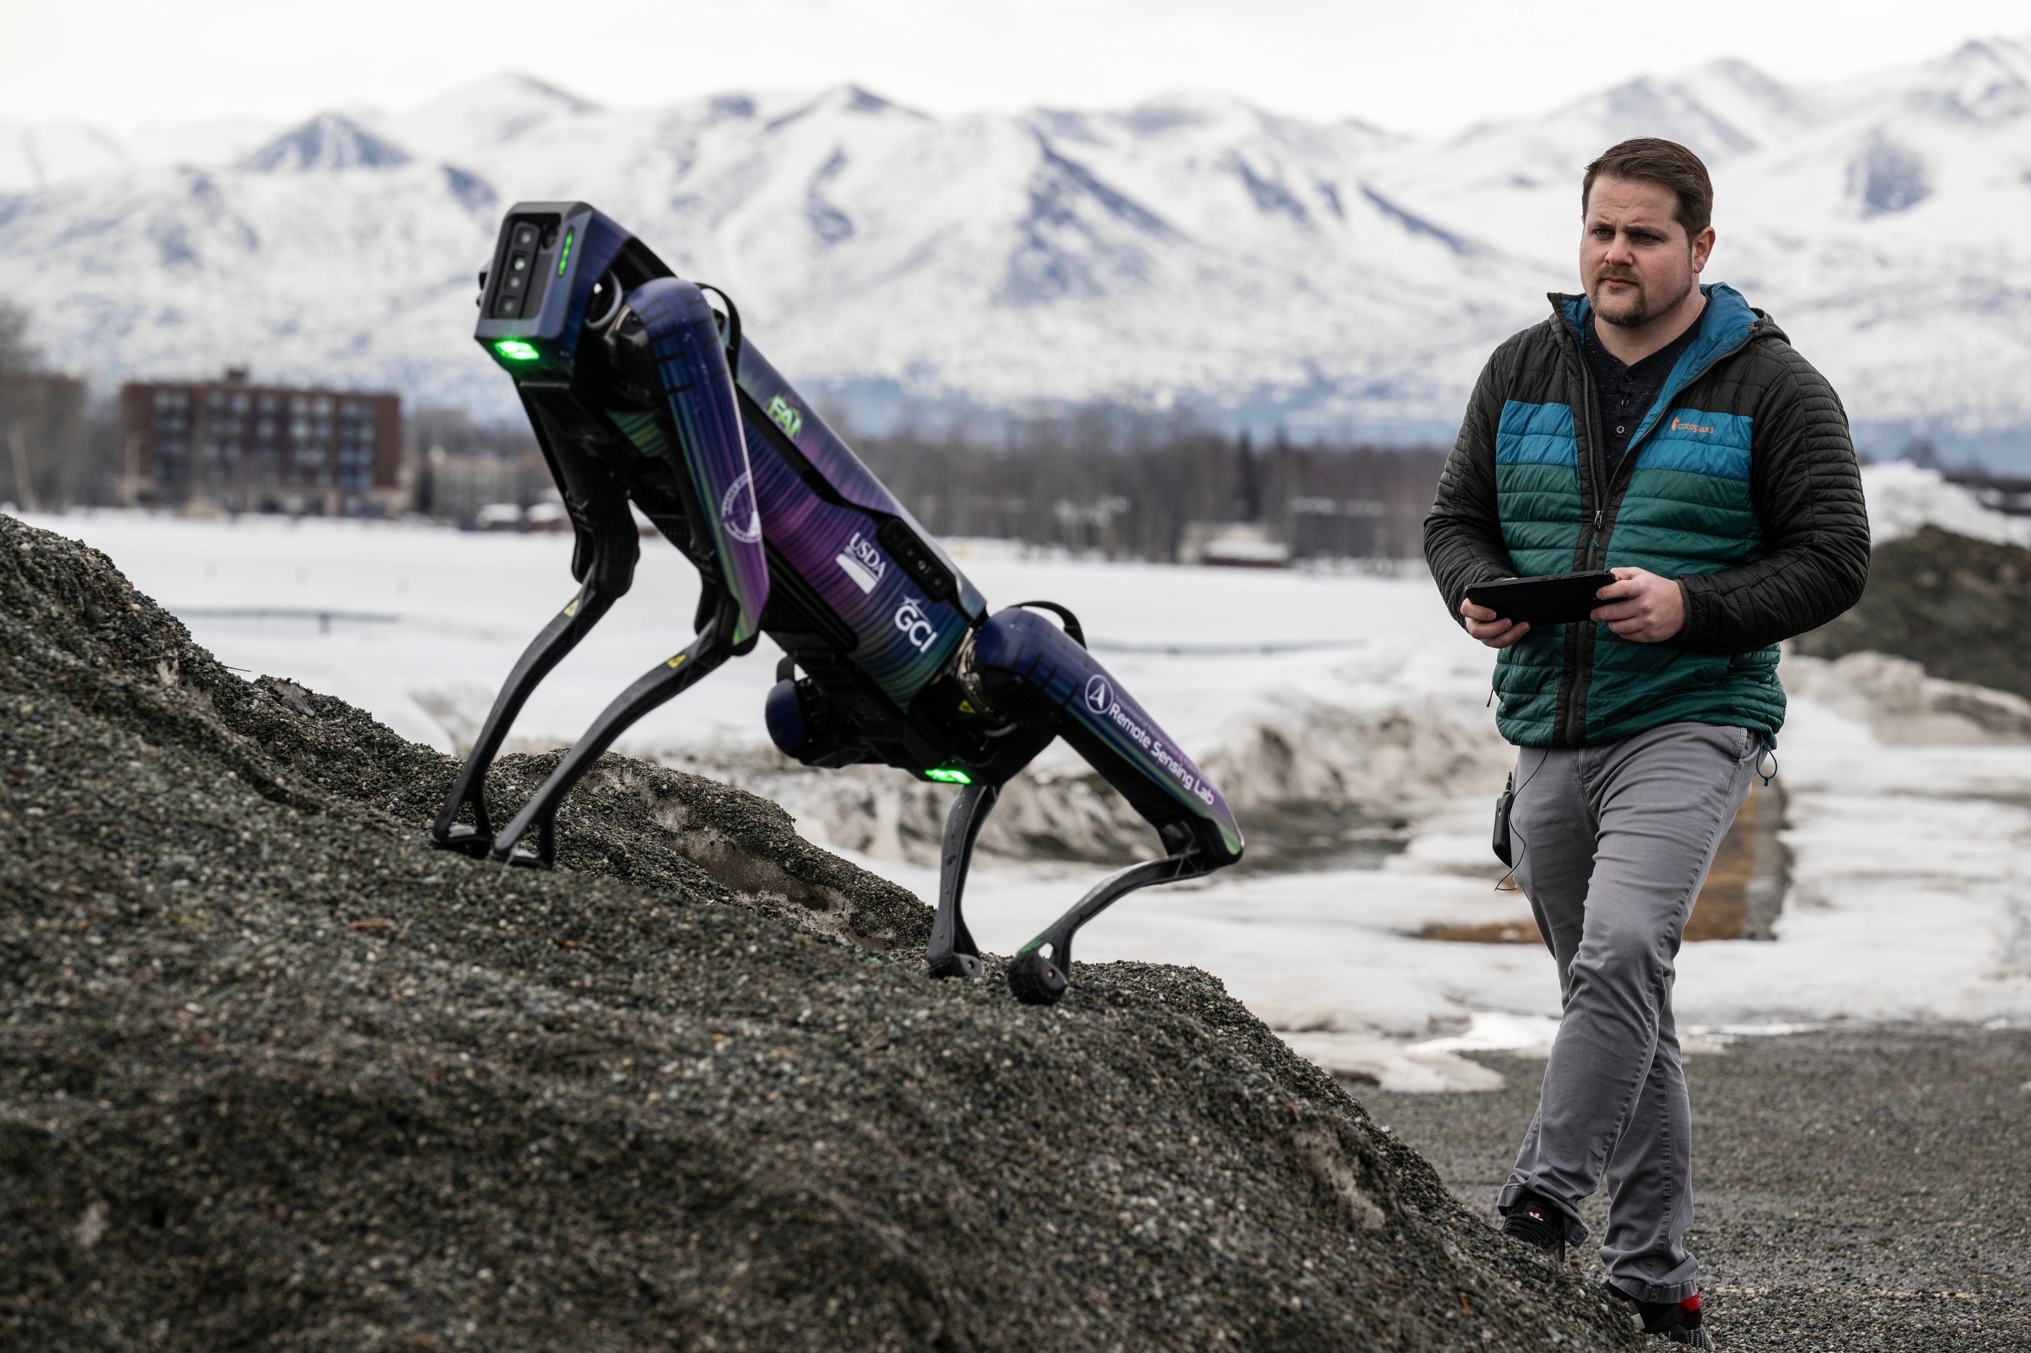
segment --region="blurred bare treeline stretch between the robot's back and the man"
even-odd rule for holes
[[[1407,559],[1446,453],[1231,437],[1186,416],[1087,406],[1009,425],[853,437],[940,536],[1178,559],[1208,524],[1255,524],[1304,557]]]

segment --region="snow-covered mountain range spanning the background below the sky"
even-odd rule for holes
[[[252,148],[244,126],[146,146],[0,128],[0,295],[104,380],[250,362],[500,410],[473,274],[508,203],[581,197],[869,421],[1123,396],[1446,435],[1489,347],[1572,288],[1582,167],[1637,134],[1708,160],[1708,278],[1777,315],[1858,423],[2031,449],[2013,41],[1826,89],[1722,61],[1444,144],[1221,95],[930,118],[847,85],[609,110],[518,75]]]

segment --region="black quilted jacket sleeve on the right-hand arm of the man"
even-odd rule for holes
[[[1789,343],[1759,356],[1779,368],[1749,465],[1769,555],[1680,579],[1686,628],[1674,642],[1700,652],[1751,652],[1818,630],[1869,581],[1869,508],[1840,396]]]

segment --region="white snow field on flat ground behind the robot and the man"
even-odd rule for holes
[[[1873,506],[1895,490],[1907,506],[1929,496],[1940,512],[1956,510],[1958,490],[1907,469],[1869,471]],[[1895,514],[1879,516],[1889,526]],[[290,676],[447,752],[451,731],[429,709],[477,723],[548,609],[573,595],[569,536],[140,514],[30,520],[102,549],[171,609],[400,616],[339,620],[329,634],[315,622],[189,624],[250,679]],[[1507,762],[1485,709],[1493,654],[1448,622],[1428,579],[1026,559],[987,542],[955,542],[953,553],[991,605],[1070,605],[1097,656],[1223,782],[1245,831],[1277,798],[1412,823],[1410,845],[1379,867],[1215,876],[1133,894],[1080,935],[1078,959],[1208,969],[1306,1056],[1389,1089],[1487,1087],[1495,1073],[1462,1050],[1550,1042],[1558,983],[1542,947],[1416,939],[1432,924],[1529,918],[1521,894],[1497,892],[1501,869],[1487,851]],[[520,746],[569,742],[628,681],[680,648],[695,589],[674,551],[644,540],[634,593],[538,689]],[[762,758],[774,660],[764,640],[638,725],[624,748],[670,762]],[[1820,672],[1824,681],[1832,676]],[[1891,746],[1866,721],[1793,697],[1779,762],[1791,886],[1777,941],[1680,951],[1674,1000],[1688,1050],[1834,1020],[2031,1022],[2031,746]],[[1078,762],[1060,744],[1042,770],[1070,776]],[[857,796],[839,813],[879,802],[879,778],[867,798],[867,782],[823,772],[798,782],[798,796],[808,802],[833,784]],[[827,835],[806,823],[814,839]],[[934,867],[912,863],[894,833],[825,843],[936,896]],[[969,880],[969,924],[989,949],[1013,951],[1103,872],[983,855]]]

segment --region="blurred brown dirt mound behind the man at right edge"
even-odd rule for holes
[[[1919,526],[1869,559],[1846,616],[1797,638],[1812,658],[1887,652],[1942,681],[2031,699],[2031,551]]]

